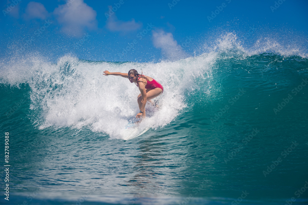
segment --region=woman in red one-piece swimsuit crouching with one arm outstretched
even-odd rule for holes
[[[136,118],[144,118],[145,104],[147,101],[161,95],[164,91],[163,86],[159,82],[151,77],[142,75],[142,73],[140,75],[135,69],[129,70],[128,73],[110,73],[109,71],[105,70],[104,75],[122,76],[128,78],[131,83],[135,83],[137,85],[140,90],[140,94],[137,97],[140,112],[136,115]]]

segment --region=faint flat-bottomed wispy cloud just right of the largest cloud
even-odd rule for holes
[[[109,8],[112,9],[111,6],[109,6]],[[132,19],[132,21],[128,22],[119,21],[115,16],[115,13],[109,16],[107,19],[107,28],[111,31],[132,31],[140,29],[141,26],[142,23],[136,23],[135,19]]]

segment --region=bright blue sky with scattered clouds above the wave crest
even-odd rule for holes
[[[54,61],[66,54],[94,61],[177,60],[205,52],[228,33],[247,48],[269,38],[308,47],[306,0],[2,0],[1,6],[1,58],[18,50]]]

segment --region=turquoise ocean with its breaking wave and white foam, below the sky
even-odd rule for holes
[[[0,204],[308,204],[299,50],[225,41],[175,62],[32,55],[0,65]],[[164,93],[158,110],[147,104],[151,129],[125,141],[139,90],[103,71],[130,69]]]

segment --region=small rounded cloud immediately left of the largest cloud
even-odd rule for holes
[[[48,11],[45,6],[38,2],[29,2],[26,7],[26,13],[23,14],[25,20],[39,18],[45,20],[48,15]]]

